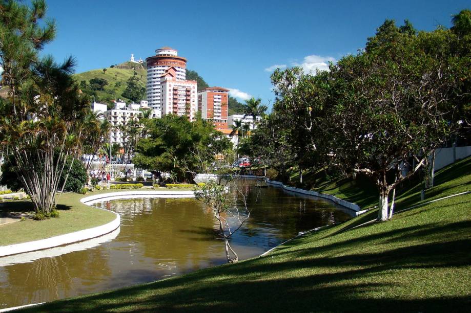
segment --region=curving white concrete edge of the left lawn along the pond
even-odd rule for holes
[[[103,200],[112,200],[112,199],[126,199],[126,198],[144,198],[144,197],[194,197],[192,191],[120,191],[120,192],[109,192],[101,193],[96,195],[91,195],[88,197],[83,197],[80,199],[81,203],[86,205],[92,205],[93,203],[103,201]],[[101,208],[96,208],[97,210],[106,210]],[[108,210],[106,210],[108,211]],[[112,211],[109,211],[112,212]],[[54,247],[59,247],[60,245],[70,244],[78,241],[84,241],[92,239],[95,237],[103,236],[112,231],[116,230],[121,224],[121,216],[118,213],[112,212],[116,215],[116,218],[111,222],[106,223],[105,225],[84,229],[76,231],[73,233],[68,233],[64,235],[54,236],[46,239],[40,239],[35,241],[16,243],[10,245],[4,245],[0,247],[0,257],[32,252],[37,250],[44,250]]]

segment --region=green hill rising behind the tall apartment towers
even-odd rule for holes
[[[84,73],[75,74],[74,77],[78,83],[82,84],[82,91],[90,95],[96,102],[108,103],[111,105],[113,100],[122,99],[126,102],[130,102],[130,99],[122,97],[122,93],[126,89],[126,82],[130,77],[137,73],[139,79],[139,85],[146,87],[147,82],[147,71],[145,66],[132,63],[124,62],[113,67],[107,67],[104,69],[91,70]],[[90,86],[90,80],[94,78],[105,79],[108,84],[104,86],[103,90],[93,90]],[[198,75],[196,71],[187,70],[187,79],[196,80],[198,82],[198,90],[203,90],[209,87],[208,83]],[[85,86],[85,87],[84,87]],[[146,96],[144,95],[144,98]],[[229,97],[229,115],[242,114],[244,105],[238,102],[235,98]]]

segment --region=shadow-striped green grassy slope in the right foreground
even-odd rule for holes
[[[471,158],[440,171],[427,200],[470,190]],[[398,209],[416,204],[419,187]],[[469,311],[471,194],[350,229],[371,211],[266,257],[30,311]]]

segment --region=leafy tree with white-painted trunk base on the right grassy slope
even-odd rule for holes
[[[450,66],[444,31],[415,35],[394,28],[386,21],[365,52],[330,67],[327,99],[335,113],[327,122],[336,126],[329,129],[333,162],[374,179],[378,220],[392,215],[390,192],[454,132],[449,117],[457,111],[463,72]]]

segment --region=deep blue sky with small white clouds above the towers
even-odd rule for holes
[[[450,26],[469,0],[121,1],[47,0],[57,37],[44,53],[75,56],[76,72],[138,59],[170,46],[210,85],[271,104],[274,65],[306,70],[364,47],[386,18],[418,30]]]

